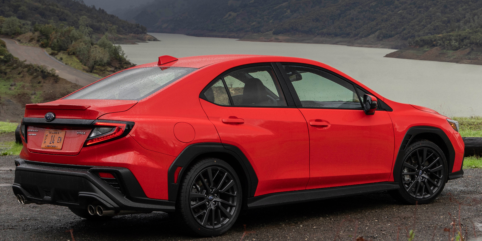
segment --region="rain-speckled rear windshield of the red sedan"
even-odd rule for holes
[[[145,67],[126,69],[64,99],[141,100],[197,68]]]

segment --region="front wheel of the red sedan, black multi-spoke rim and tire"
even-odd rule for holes
[[[400,189],[390,191],[395,199],[408,204],[435,200],[447,182],[447,160],[442,149],[428,140],[410,145],[403,156]]]

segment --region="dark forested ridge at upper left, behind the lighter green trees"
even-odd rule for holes
[[[0,16],[17,17],[35,24],[64,24],[79,28],[79,19],[86,16],[95,33],[104,34],[116,25],[119,34],[143,34],[146,27],[129,23],[102,9],[89,7],[79,0],[2,0]]]

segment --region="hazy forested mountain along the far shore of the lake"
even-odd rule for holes
[[[475,0],[156,0],[136,11],[132,20],[148,31],[187,34],[414,40],[482,27],[482,1]]]

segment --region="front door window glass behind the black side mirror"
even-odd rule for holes
[[[298,94],[302,107],[362,108],[353,84],[315,68],[283,68]]]

